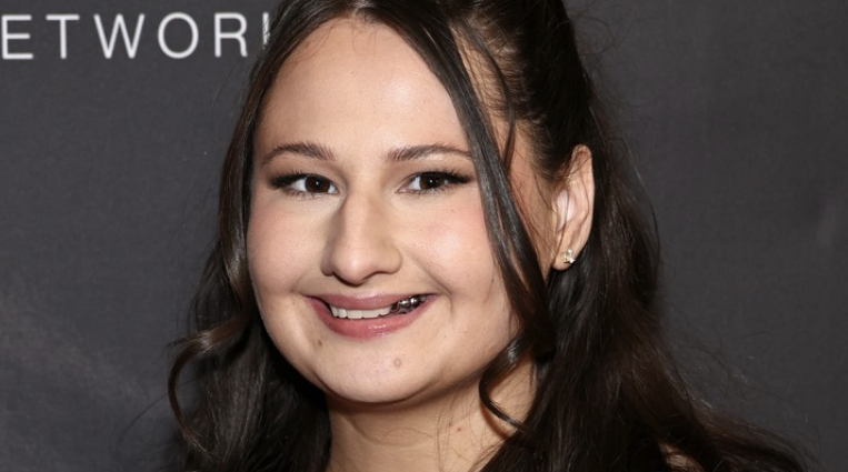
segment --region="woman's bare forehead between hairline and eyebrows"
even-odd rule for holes
[[[323,24],[286,60],[257,144],[341,139],[340,129],[386,145],[465,145],[450,97],[418,53],[391,28],[352,19]]]

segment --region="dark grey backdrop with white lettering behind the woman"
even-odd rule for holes
[[[0,0],[3,470],[163,465],[166,347],[272,3]],[[848,3],[572,7],[654,204],[688,375],[844,470]]]

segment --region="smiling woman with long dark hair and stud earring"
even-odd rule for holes
[[[678,378],[600,116],[558,1],[285,2],[170,379],[184,469],[802,470]]]

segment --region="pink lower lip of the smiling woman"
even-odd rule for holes
[[[333,332],[348,338],[370,339],[383,337],[408,327],[415,322],[425,310],[427,310],[432,299],[432,297],[428,295],[423,304],[409,313],[362,318],[358,320],[333,317],[330,309],[319,299],[309,298],[309,303],[312,305],[316,313],[318,313],[318,318]]]

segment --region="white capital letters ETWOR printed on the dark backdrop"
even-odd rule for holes
[[[106,59],[112,59],[116,52],[121,49],[130,59],[136,58],[141,41],[141,33],[144,29],[144,13],[136,16],[134,19],[124,19],[123,14],[117,14],[110,21],[100,14],[93,14],[94,28],[97,29],[100,47],[103,50]],[[39,21],[39,20],[34,20]],[[58,56],[61,59],[68,58],[69,30],[72,30],[80,21],[80,16],[76,13],[47,14],[44,21],[51,23],[59,31]],[[262,43],[268,40],[268,13],[262,13]],[[31,14],[2,14],[0,16],[0,59],[2,60],[34,60],[36,53],[28,50],[28,43],[32,40]],[[215,57],[222,54],[222,44],[225,41],[235,41],[238,43],[239,52],[242,57],[248,54],[247,40],[245,33],[248,30],[248,20],[241,13],[219,12],[215,13],[213,38]],[[69,28],[70,27],[70,28]],[[188,33],[188,44],[180,41],[180,44],[172,44],[168,41],[168,31],[178,31]],[[200,27],[198,22],[187,13],[173,12],[159,21],[157,27],[157,42],[162,53],[172,59],[184,59],[194,53],[200,39]],[[173,41],[172,41],[173,42]]]

